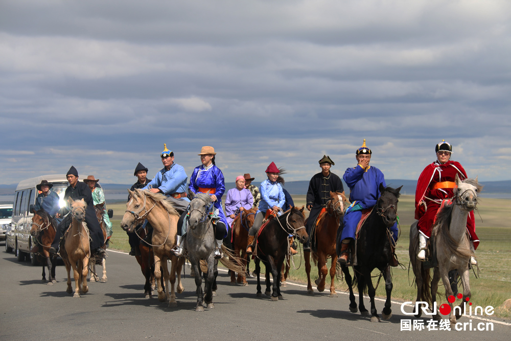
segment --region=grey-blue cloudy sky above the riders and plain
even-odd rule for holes
[[[274,161],[342,174],[363,139],[416,179],[442,139],[479,180],[510,179],[511,3],[0,1],[0,183],[151,176],[201,146],[227,181]]]

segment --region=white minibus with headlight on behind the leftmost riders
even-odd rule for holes
[[[34,214],[29,209],[31,205],[35,204],[35,198],[40,193],[36,186],[42,180],[47,180],[50,184],[53,184],[51,190],[59,195],[60,207],[65,207],[64,192],[69,186],[65,174],[43,175],[19,182],[14,193],[12,223],[7,231],[5,241],[6,251],[13,249],[18,261],[23,261],[26,257],[30,257],[30,260],[35,259],[34,255],[30,253],[33,245],[30,229],[32,228],[32,216]]]

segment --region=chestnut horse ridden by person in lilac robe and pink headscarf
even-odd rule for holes
[[[241,262],[244,267],[247,267],[248,272],[248,263],[250,259],[247,259],[247,239],[248,239],[248,230],[252,227],[255,218],[255,212],[257,212],[257,208],[251,208],[250,210],[245,210],[240,212],[234,219],[233,225],[233,248],[234,254],[236,257],[240,256],[241,252]],[[242,285],[247,285],[246,274],[242,272],[238,272],[238,280],[236,281],[236,275],[234,271],[230,272],[230,284],[241,283]]]

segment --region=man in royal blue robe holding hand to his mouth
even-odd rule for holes
[[[369,166],[371,154],[373,152],[366,147],[365,139],[362,147],[356,151],[358,165],[354,168],[348,168],[342,178],[348,187],[350,187],[350,201],[352,204],[347,208],[344,214],[341,234],[341,252],[337,259],[339,263],[346,264],[350,254],[350,243],[355,240],[357,225],[362,217],[362,210],[374,207],[380,197],[380,184],[386,187],[385,177],[381,170]],[[398,223],[390,228],[394,242],[398,240]],[[398,266],[398,260],[392,250],[391,266]]]

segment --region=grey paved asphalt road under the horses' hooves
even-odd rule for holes
[[[2,250],[5,248],[2,245]],[[41,267],[18,262],[0,252],[0,340],[508,340],[509,321],[495,321],[494,331],[401,331],[409,319],[392,305],[390,322],[370,323],[348,311],[347,295],[309,296],[306,288],[283,288],[284,300],[255,296],[255,280],[230,286],[225,272],[218,277],[215,309],[195,312],[195,283],[188,275],[178,307],[145,299],[143,276],[134,257],[109,252],[108,283],[90,283],[89,293],[74,299],[65,292],[65,267],[57,267],[53,286],[41,283]],[[189,270],[187,269],[187,274]],[[74,287],[74,282],[73,282]],[[367,303],[366,306],[369,304]],[[377,301],[381,312],[383,302]],[[411,311],[411,308],[407,308]],[[473,320],[473,324],[481,320]],[[460,322],[469,322],[463,316]],[[500,322],[500,323],[498,323]]]

